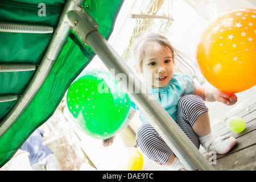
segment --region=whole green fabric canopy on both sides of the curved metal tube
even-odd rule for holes
[[[46,5],[46,16],[39,16],[39,3]],[[98,23],[98,31],[108,39],[123,0],[86,0],[84,9]],[[56,27],[65,0],[0,1],[0,21],[47,24]],[[40,65],[53,34],[0,32],[0,64],[28,63]],[[0,168],[18,151],[26,139],[52,116],[69,85],[90,63],[95,53],[69,36],[59,58],[36,94],[13,126],[0,138]],[[35,71],[0,72],[0,95],[23,94]],[[16,101],[0,102],[0,122]]]

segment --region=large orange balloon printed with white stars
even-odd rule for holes
[[[196,46],[206,80],[228,94],[256,85],[256,10],[239,8],[214,18]]]

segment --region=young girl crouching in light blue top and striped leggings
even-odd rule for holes
[[[196,86],[191,75],[174,72],[174,58],[177,51],[162,35],[150,34],[140,39],[134,46],[135,70],[143,76],[143,80],[152,95],[160,102],[177,125],[197,148],[200,144],[207,151],[225,154],[237,140],[230,135],[215,137],[210,129],[208,109],[204,101],[220,101],[226,105],[237,102],[236,95],[228,98],[228,94],[218,89]],[[204,101],[203,101],[204,100]],[[131,101],[131,109],[138,107]],[[131,110],[129,119],[134,115]],[[179,159],[164,142],[144,115],[136,135],[136,145],[144,154],[170,170],[184,169]],[[113,138],[104,141],[104,146],[112,144]]]

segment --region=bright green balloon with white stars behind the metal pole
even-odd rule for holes
[[[71,84],[67,105],[82,131],[93,138],[108,139],[124,125],[130,98],[110,73],[93,70]]]

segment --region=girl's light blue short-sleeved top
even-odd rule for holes
[[[160,102],[164,109],[176,121],[177,103],[181,96],[192,94],[196,89],[196,84],[193,82],[191,75],[183,73],[174,73],[168,84],[159,89],[148,89],[152,95]],[[159,93],[161,100],[159,98]],[[131,109],[138,110],[139,108],[131,101]],[[142,123],[148,123],[147,119],[140,112],[139,118]]]

